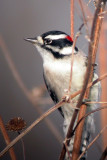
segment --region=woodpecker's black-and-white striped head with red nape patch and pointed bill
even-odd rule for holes
[[[35,38],[25,39],[33,43],[40,52],[43,61],[45,59],[54,58],[62,59],[72,54],[72,38],[61,31],[49,31]],[[78,49],[75,47],[75,53]]]

